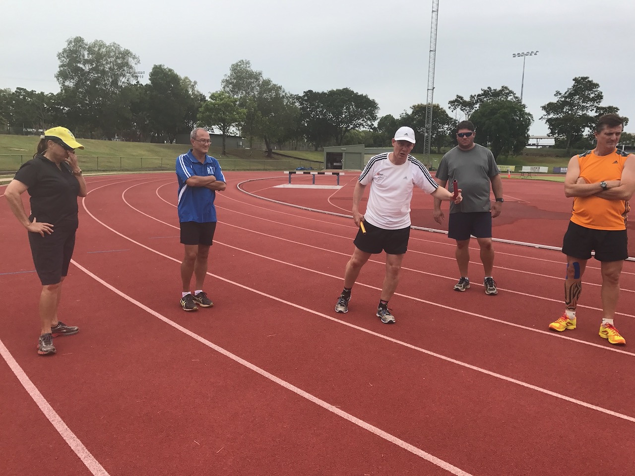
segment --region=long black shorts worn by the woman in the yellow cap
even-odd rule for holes
[[[57,284],[69,274],[77,228],[56,226],[50,235],[29,232],[33,264],[42,286]]]

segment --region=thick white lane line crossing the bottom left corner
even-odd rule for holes
[[[27,374],[22,370],[22,367],[18,364],[18,362],[13,358],[13,355],[9,352],[8,348],[4,345],[3,341],[0,340],[0,354],[3,356],[4,361],[8,364],[13,374],[18,378],[20,383],[22,383],[22,387],[29,393],[30,397],[36,402],[39,409],[44,413],[44,416],[51,422],[51,425],[60,433],[60,436],[64,438],[64,441],[70,446],[79,459],[81,459],[82,463],[86,465],[86,468],[93,473],[95,476],[110,476],[109,473],[104,469],[104,466],[99,464],[99,461],[95,459],[88,449],[84,446],[84,444],[75,436],[70,428],[64,423],[64,420],[57,414],[57,412],[51,407],[49,402],[46,401],[44,395],[37,390],[37,387],[30,380]],[[43,357],[46,359],[46,357]]]

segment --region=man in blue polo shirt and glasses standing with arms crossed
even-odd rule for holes
[[[212,307],[214,303],[203,291],[207,274],[207,258],[216,230],[216,192],[225,190],[225,176],[214,157],[207,155],[210,134],[196,128],[190,134],[192,149],[177,158],[178,221],[185,257],[181,263],[183,292],[181,306],[184,311],[195,311],[198,306]],[[192,274],[196,279],[194,294],[190,290]]]

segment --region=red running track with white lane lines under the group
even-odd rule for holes
[[[215,307],[187,314],[174,175],[89,178],[60,307],[81,331],[56,338],[53,357],[36,355],[39,282],[0,207],[3,474],[43,461],[50,474],[112,476],[632,474],[632,262],[616,317],[628,343],[614,347],[597,334],[594,261],[578,329],[551,333],[561,253],[496,244],[499,294],[486,296],[472,249],[474,284],[456,293],[453,243],[413,230],[386,326],[383,256],[336,314],[352,220],[236,187],[265,176],[242,187],[286,198],[272,188],[284,176],[227,173],[206,281]],[[295,189],[293,202],[340,200],[347,215],[351,187]]]

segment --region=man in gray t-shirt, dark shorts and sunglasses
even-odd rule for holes
[[[462,191],[463,201],[450,204],[448,219],[448,237],[457,241],[457,264],[460,279],[455,284],[456,291],[466,291],[470,287],[467,267],[470,261],[469,243],[474,235],[481,247],[481,262],[485,270],[485,293],[491,296],[498,293],[492,277],[494,267],[494,249],[491,244],[491,219],[500,215],[503,204],[503,185],[500,173],[490,149],[474,143],[474,124],[461,121],[457,124],[458,145],[441,159],[436,173],[436,181],[445,187],[456,180]],[[490,202],[491,190],[495,202]],[[450,191],[454,188],[451,186]],[[443,223],[445,216],[441,211],[441,201],[434,200],[434,220]]]

